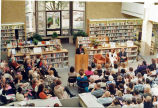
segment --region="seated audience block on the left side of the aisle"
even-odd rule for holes
[[[2,61],[0,64],[0,105],[52,96],[69,98],[60,78],[56,69],[48,65],[42,56],[30,58],[24,55],[20,64],[11,55],[8,63]],[[8,99],[9,95],[15,95],[15,98]]]

